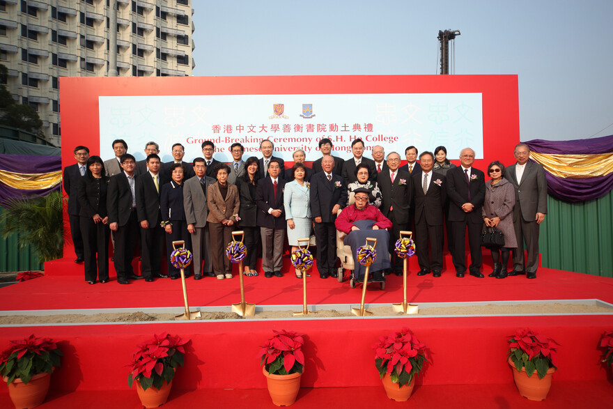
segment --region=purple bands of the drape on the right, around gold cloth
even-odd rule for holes
[[[613,135],[573,141],[545,141],[534,139],[524,142],[531,151],[543,154],[590,155],[613,153]],[[548,193],[561,201],[576,203],[605,196],[613,189],[613,173],[593,178],[571,179],[554,176],[545,171]]]

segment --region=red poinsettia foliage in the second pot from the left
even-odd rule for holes
[[[127,364],[131,371],[127,376],[127,385],[137,380],[143,390],[150,387],[160,389],[164,384],[170,383],[175,377],[178,366],[183,366],[185,345],[189,339],[181,339],[164,332],[154,335],[150,341],[139,344],[138,349],[132,353],[132,362]]]

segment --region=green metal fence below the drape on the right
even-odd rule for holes
[[[543,267],[613,277],[613,191],[582,203],[548,196],[538,240]]]

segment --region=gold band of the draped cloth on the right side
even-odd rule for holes
[[[546,171],[559,178],[587,179],[613,172],[613,153],[591,155],[559,155],[530,152],[530,157]]]

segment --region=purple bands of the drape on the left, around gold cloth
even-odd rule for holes
[[[0,169],[15,173],[49,173],[62,169],[60,156],[5,155],[0,154]],[[53,190],[61,190],[61,184],[51,189],[22,190],[0,183],[0,203],[7,199],[21,199],[26,196],[45,195]]]

